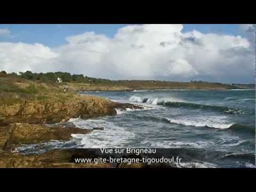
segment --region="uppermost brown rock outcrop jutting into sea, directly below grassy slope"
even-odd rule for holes
[[[116,115],[115,108],[142,109],[143,106],[117,103],[107,99],[81,96],[67,102],[25,102],[0,107],[0,126],[11,123],[53,124],[70,118]]]

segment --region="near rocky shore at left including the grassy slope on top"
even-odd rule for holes
[[[72,90],[63,93],[57,85],[14,80],[12,84],[3,81],[3,85],[6,83],[15,88],[13,93],[0,90],[4,97],[0,103],[0,167],[113,167],[111,164],[68,163],[69,158],[75,154],[72,151],[67,154],[63,150],[51,150],[40,155],[23,155],[13,152],[13,149],[50,140],[70,140],[71,134],[87,134],[92,131],[79,129],[72,124],[64,126],[63,123],[70,118],[111,116],[117,114],[116,109],[137,109],[142,108],[141,105],[80,95]],[[42,95],[46,99],[37,99]],[[102,130],[103,127],[94,129]]]

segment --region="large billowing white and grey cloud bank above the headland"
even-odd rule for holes
[[[132,25],[120,28],[113,38],[86,32],[67,37],[59,47],[4,42],[0,43],[0,70],[68,71],[109,79],[254,82],[250,39],[196,30],[182,33],[182,28]]]

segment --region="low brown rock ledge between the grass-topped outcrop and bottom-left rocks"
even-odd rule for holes
[[[86,134],[92,130],[70,126],[44,126],[27,123],[14,123],[0,127],[0,147],[11,149],[15,145],[46,142],[50,140],[69,140],[71,133]]]

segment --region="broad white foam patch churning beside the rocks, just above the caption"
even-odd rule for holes
[[[89,134],[71,134],[73,138],[79,140],[78,147],[81,148],[124,147],[135,136],[133,132],[125,131],[124,127],[116,126],[102,119],[80,120],[75,122],[75,125],[82,129],[103,127],[103,130],[94,130]]]

